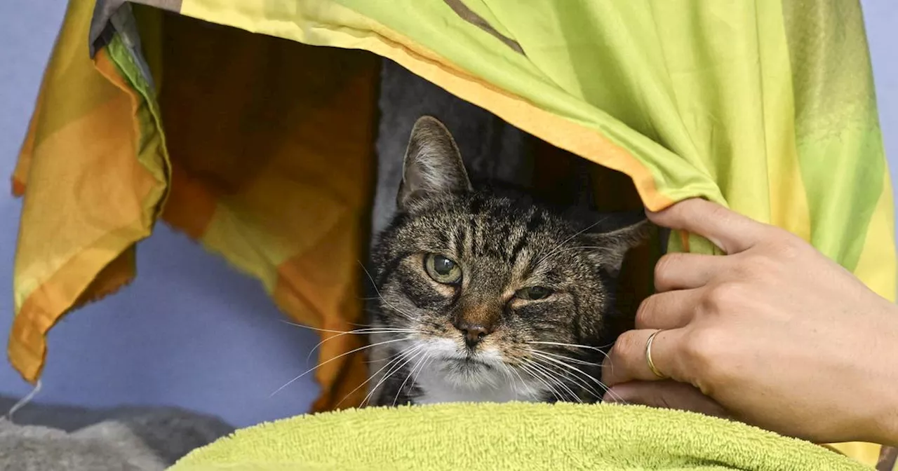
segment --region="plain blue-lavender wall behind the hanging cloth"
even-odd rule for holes
[[[885,149],[893,181],[898,181],[898,3],[862,3]],[[12,324],[20,211],[20,201],[5,196],[5,182],[13,172],[65,8],[65,0],[0,1],[2,351]],[[317,395],[312,375],[275,397],[269,395],[313,366],[306,357],[316,336],[281,322],[259,283],[163,224],[137,253],[140,273],[135,283],[51,331],[41,401],[178,405],[219,414],[238,426],[307,410]],[[0,394],[23,396],[30,390],[0,361]]]

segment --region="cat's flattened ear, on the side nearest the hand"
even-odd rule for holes
[[[595,261],[608,275],[616,277],[621,274],[623,259],[629,249],[645,242],[654,226],[641,211],[607,214],[605,218],[594,231],[588,231],[584,236],[594,247]]]

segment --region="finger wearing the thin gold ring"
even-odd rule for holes
[[[633,380],[665,379],[659,378],[648,368],[646,345],[648,337],[655,331],[656,329],[629,330],[618,337],[602,364],[602,381],[606,386]],[[682,338],[682,328],[659,332],[652,341],[652,361],[665,377],[686,382],[675,361],[678,356],[674,354],[677,345],[682,345]]]

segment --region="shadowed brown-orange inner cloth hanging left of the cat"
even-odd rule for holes
[[[154,74],[172,161],[163,220],[260,277],[294,321],[333,331],[364,322],[357,261],[371,211],[378,57],[172,13],[161,28]],[[364,339],[324,337],[313,409],[358,406],[365,355],[340,355]]]

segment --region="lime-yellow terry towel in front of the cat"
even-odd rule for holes
[[[302,415],[235,432],[170,471],[868,469],[742,423],[643,406],[449,404]]]

